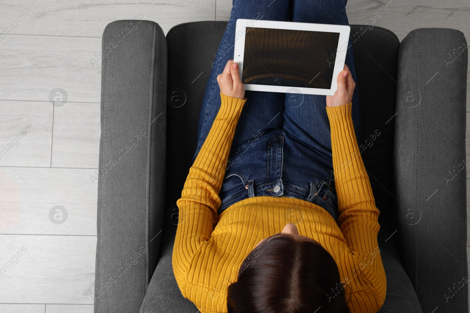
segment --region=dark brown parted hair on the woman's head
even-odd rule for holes
[[[228,313],[350,313],[333,257],[320,244],[276,234],[245,258],[228,286]]]

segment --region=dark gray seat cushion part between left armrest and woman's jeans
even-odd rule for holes
[[[196,153],[197,124],[215,53],[224,35],[224,21],[176,25],[166,34],[168,44],[166,203],[178,210],[184,182]],[[198,77],[199,76],[199,77]],[[174,93],[177,91],[177,93]],[[180,102],[175,101],[178,99]],[[181,105],[183,102],[183,105]]]

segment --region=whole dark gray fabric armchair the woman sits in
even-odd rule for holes
[[[102,37],[95,313],[196,313],[172,271],[176,200],[227,22],[120,20]],[[130,30],[130,31],[129,31]],[[380,312],[468,312],[466,41],[351,25],[359,145],[381,211]],[[435,311],[434,311],[435,310]]]

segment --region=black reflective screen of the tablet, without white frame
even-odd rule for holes
[[[339,33],[247,27],[243,84],[330,89]]]

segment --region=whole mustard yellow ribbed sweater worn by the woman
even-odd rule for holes
[[[352,103],[326,107],[340,214],[336,222],[321,206],[288,197],[246,198],[217,215],[228,154],[246,103],[246,98],[221,92],[220,98],[219,112],[176,202],[180,213],[172,266],[182,295],[202,313],[226,313],[227,287],[236,281],[245,257],[261,239],[292,222],[336,261],[351,312],[376,313],[387,290],[377,244],[379,211],[354,133]],[[332,290],[328,297],[335,295]]]

